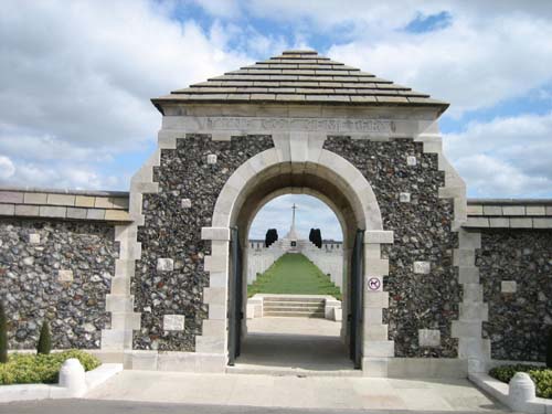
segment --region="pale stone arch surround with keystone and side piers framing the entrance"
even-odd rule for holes
[[[261,202],[283,188],[307,188],[337,200],[335,209],[349,219],[347,226],[365,231],[364,280],[369,277],[382,278],[389,273],[388,261],[380,256],[380,245],[393,243],[393,233],[383,230],[378,200],[364,176],[344,158],[321,148],[325,137],[283,134],[274,135],[273,139],[275,148],[252,157],[229,178],[216,200],[212,227],[202,230],[202,238],[212,241],[212,254],[205,256],[205,270],[210,273],[211,286],[204,289],[204,302],[209,305],[210,311],[209,319],[203,322],[203,335],[197,337],[197,352],[209,352],[210,348],[202,347],[202,343],[223,341],[224,347],[227,343],[230,229],[243,227],[251,220],[252,212],[262,205]],[[309,146],[311,141],[318,144]],[[246,203],[250,203],[250,208],[244,213]],[[344,255],[351,236],[348,231],[348,240],[343,240]],[[370,318],[364,318],[363,370],[380,370],[382,358],[394,355],[394,342],[389,340],[386,325],[382,323],[381,316],[381,309],[386,308],[388,304],[389,295],[385,291],[364,295],[364,310],[370,308],[374,312]],[[217,326],[217,338],[205,335],[205,331],[212,331],[213,326]]]

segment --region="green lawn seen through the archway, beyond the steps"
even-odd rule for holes
[[[331,295],[341,300],[339,288],[302,254],[286,253],[247,286],[255,294]]]

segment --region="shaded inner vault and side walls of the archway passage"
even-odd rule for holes
[[[245,317],[247,314],[246,247],[248,246],[250,227],[256,213],[264,204],[278,195],[294,193],[314,195],[323,201],[335,212],[341,225],[343,282],[341,286],[342,323],[339,329],[339,338],[341,343],[346,346],[341,352],[343,363],[340,367],[323,367],[322,364],[320,369],[360,368],[362,317],[359,314],[362,315],[363,268],[362,263],[359,262],[359,265],[353,257],[353,246],[360,246],[355,251],[361,254],[363,238],[359,237],[359,230],[362,233],[367,227],[367,212],[370,209],[375,209],[378,214],[371,220],[379,221],[380,216],[376,203],[367,208],[365,200],[361,200],[359,195],[361,191],[367,190],[367,188],[361,187],[363,182],[361,180],[353,181],[343,179],[331,167],[319,163],[275,163],[255,173],[245,184],[242,183],[230,211],[221,208],[221,211],[230,212],[227,217],[233,234],[229,277],[229,359],[231,365],[236,363],[242,351],[243,339],[247,332]],[[358,187],[355,188],[354,184]],[[371,191],[368,184],[367,187],[368,191]],[[221,203],[221,205],[223,204]],[[224,217],[222,213],[221,217]],[[355,277],[350,277],[351,270],[355,272]],[[357,280],[354,286],[358,287],[353,287],[353,280]],[[358,293],[360,293],[360,298]],[[252,311],[251,306],[250,311]],[[347,358],[348,351],[354,360],[354,364]],[[287,363],[284,361],[282,364],[284,368],[293,368],[289,367],[289,361]],[[317,368],[310,365],[307,369]]]

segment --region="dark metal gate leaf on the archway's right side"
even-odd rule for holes
[[[363,320],[363,256],[364,231],[357,230],[351,259],[351,284],[349,317],[350,322],[350,355],[354,368],[362,367],[362,320]]]

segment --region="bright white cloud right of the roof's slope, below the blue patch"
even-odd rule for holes
[[[492,107],[552,79],[552,21],[528,14],[463,10],[438,33],[359,38],[329,55],[452,104],[447,114]],[[535,59],[539,56],[539,59]],[[530,62],[530,63],[529,63]]]

